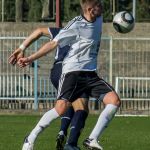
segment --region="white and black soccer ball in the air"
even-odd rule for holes
[[[134,17],[127,11],[121,11],[114,16],[113,26],[119,33],[128,33],[134,28]]]

